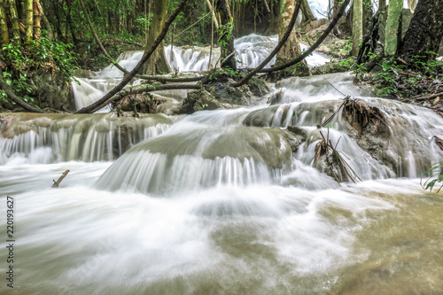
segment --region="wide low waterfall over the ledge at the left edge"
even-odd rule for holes
[[[158,136],[172,120],[163,115],[119,119],[112,114],[0,115],[0,165],[86,162],[118,158],[144,139]]]

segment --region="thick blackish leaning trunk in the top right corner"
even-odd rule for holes
[[[403,39],[400,56],[411,61],[415,56],[430,58],[437,52],[443,37],[443,0],[420,0],[416,5],[408,31]]]

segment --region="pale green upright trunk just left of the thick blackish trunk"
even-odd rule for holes
[[[390,0],[385,30],[385,55],[397,54],[401,41],[401,10],[403,0]]]

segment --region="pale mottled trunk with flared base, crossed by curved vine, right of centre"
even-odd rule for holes
[[[302,2],[303,3],[303,2]],[[282,14],[280,15],[280,22],[278,26],[278,37],[283,38],[286,28],[289,26],[292,15],[294,14],[294,0],[284,0],[282,3]],[[288,41],[284,43],[282,49],[276,55],[276,65],[284,65],[291,60],[297,58],[300,54],[299,40],[297,33],[292,29]],[[308,74],[309,69],[305,60],[300,62],[299,71],[302,74]]]

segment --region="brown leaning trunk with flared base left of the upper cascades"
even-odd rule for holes
[[[161,29],[166,21],[167,12],[167,0],[155,0],[152,1],[152,25],[149,28],[147,47],[154,43],[157,36],[160,34]],[[171,68],[167,63],[165,55],[165,45],[163,41],[159,44],[159,47],[152,53],[151,58],[144,64],[144,74],[164,74],[171,72]]]

